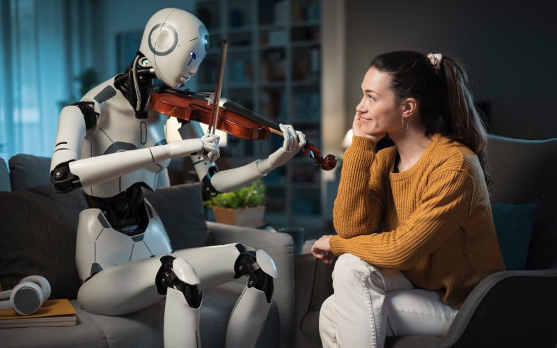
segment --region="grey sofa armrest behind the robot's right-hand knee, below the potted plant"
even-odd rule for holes
[[[294,242],[286,233],[269,232],[255,228],[244,228],[207,221],[214,244],[242,243],[255,249],[263,249],[271,255],[278,278],[274,280],[273,301],[278,308],[281,337],[280,347],[295,345],[295,281]]]

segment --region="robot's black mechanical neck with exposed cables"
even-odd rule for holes
[[[122,92],[136,113],[136,118],[147,118],[151,102],[152,79],[155,72],[151,68],[133,68],[133,63],[123,73],[116,76],[114,86]],[[139,91],[139,93],[137,93]]]

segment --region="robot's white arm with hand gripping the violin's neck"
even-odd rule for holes
[[[229,192],[264,177],[270,171],[288,162],[306,145],[304,134],[295,131],[291,125],[281,125],[281,130],[284,134],[283,146],[266,159],[258,159],[245,166],[219,172],[207,161],[199,157],[191,157],[199,179],[214,192]]]

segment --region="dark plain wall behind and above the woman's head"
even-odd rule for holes
[[[554,1],[346,1],[347,125],[377,54],[455,55],[478,100],[492,103],[492,133],[557,137]]]

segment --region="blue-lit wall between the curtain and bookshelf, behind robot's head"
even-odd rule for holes
[[[120,73],[116,70],[116,34],[125,31],[143,31],[149,18],[162,8],[181,8],[191,11],[193,2],[187,0],[95,1],[95,9],[92,13],[93,47],[95,47],[93,58],[102,81]]]

